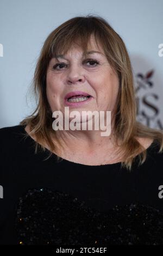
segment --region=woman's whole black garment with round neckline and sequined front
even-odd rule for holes
[[[131,172],[34,154],[24,126],[0,129],[1,244],[163,245],[163,161],[156,141]]]

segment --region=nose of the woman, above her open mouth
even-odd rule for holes
[[[80,68],[71,67],[70,71],[68,72],[67,76],[67,83],[68,84],[82,84],[84,83],[84,74],[82,74],[82,70]]]

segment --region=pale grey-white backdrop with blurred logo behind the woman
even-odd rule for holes
[[[162,10],[163,0],[0,0],[0,127],[17,125],[32,112],[26,95],[48,34],[74,16],[97,14],[127,46],[137,119],[163,129]]]

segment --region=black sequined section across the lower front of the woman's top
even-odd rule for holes
[[[163,213],[148,205],[89,208],[68,193],[29,190],[17,205],[21,245],[163,245]]]

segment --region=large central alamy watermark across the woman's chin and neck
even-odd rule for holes
[[[106,117],[105,117],[106,113]],[[53,130],[93,130],[93,121],[96,131],[102,130],[101,136],[109,136],[111,133],[111,111],[79,111],[69,112],[69,107],[65,107],[64,116],[61,111],[54,111],[52,127]],[[70,121],[70,118],[73,118]],[[105,125],[106,120],[106,125]],[[82,126],[82,129],[81,129]]]

